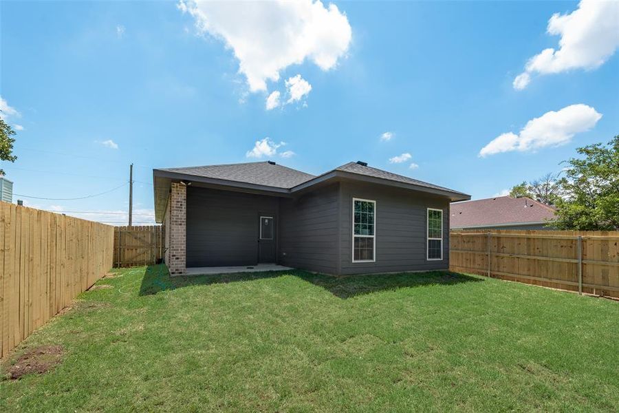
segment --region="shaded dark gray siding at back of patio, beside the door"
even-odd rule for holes
[[[188,187],[187,266],[255,265],[259,216],[275,217],[279,198]]]

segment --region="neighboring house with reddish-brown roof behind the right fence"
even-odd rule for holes
[[[451,229],[554,229],[554,208],[531,198],[498,196],[455,202]]]

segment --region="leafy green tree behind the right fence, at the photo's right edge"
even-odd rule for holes
[[[558,229],[619,230],[619,135],[607,145],[597,143],[576,149],[583,158],[567,161],[561,187],[565,198],[557,202]]]

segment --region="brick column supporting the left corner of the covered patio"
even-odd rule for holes
[[[170,193],[170,244],[168,269],[170,275],[184,274],[186,270],[186,217],[187,217],[187,187],[184,184],[172,182]]]

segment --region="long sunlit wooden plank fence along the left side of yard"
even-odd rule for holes
[[[112,267],[113,226],[0,202],[4,357]]]

